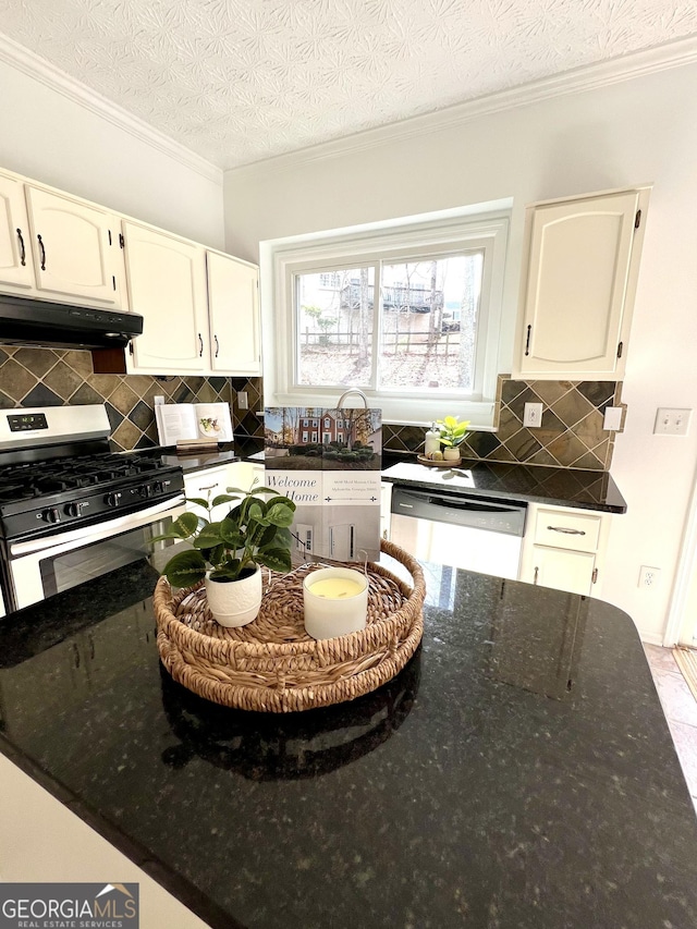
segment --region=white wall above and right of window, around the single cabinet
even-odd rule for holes
[[[412,138],[228,172],[228,250],[252,260],[259,241],[512,196],[505,315],[517,298],[523,207],[548,197],[653,182],[612,475],[628,512],[614,519],[606,599],[648,640],[665,623],[695,472],[697,421],[687,438],[652,436],[656,407],[697,406],[697,68],[479,117]],[[421,120],[421,123],[427,121]],[[320,157],[326,154],[326,157]],[[662,570],[651,591],[639,567]]]

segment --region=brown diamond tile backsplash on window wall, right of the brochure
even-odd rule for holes
[[[614,381],[518,381],[499,377],[496,432],[470,432],[463,457],[493,462],[608,470],[614,432],[602,428],[607,406],[621,405],[622,384]],[[526,403],[542,404],[542,425],[523,425]],[[448,411],[450,412],[450,411]],[[424,450],[421,426],[383,426],[383,448]]]

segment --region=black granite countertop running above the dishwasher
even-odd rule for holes
[[[606,513],[625,513],[627,509],[611,475],[603,470],[481,461],[463,461],[452,468],[432,467],[414,460],[394,463],[388,459],[384,464],[382,479],[405,486]]]

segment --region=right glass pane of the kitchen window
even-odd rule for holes
[[[379,386],[474,386],[484,252],[382,266]]]

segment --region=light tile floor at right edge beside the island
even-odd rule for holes
[[[645,645],[644,650],[697,811],[697,700],[670,648]]]

